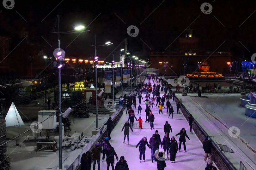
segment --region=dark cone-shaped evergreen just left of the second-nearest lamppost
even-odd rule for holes
[[[89,117],[89,110],[88,106],[86,105],[82,92],[78,93],[76,96],[76,106],[73,112],[73,115],[78,118],[88,118]]]

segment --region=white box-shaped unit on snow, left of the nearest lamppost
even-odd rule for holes
[[[56,128],[56,122],[57,122],[56,114],[52,115],[55,112],[56,112],[56,110],[40,110],[40,111],[38,111],[37,121],[42,122],[41,124],[43,125],[43,129],[55,129]]]

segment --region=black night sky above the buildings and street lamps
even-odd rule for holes
[[[47,47],[47,55],[52,55],[58,47],[58,36],[51,31],[60,14],[60,32],[73,30],[79,24],[90,30],[78,37],[78,33],[60,35],[66,56],[94,56],[91,45],[95,44],[95,34],[97,45],[111,41],[116,50],[125,47],[123,41],[127,38],[131,54],[143,48],[148,54],[179,51],[178,37],[187,27],[193,29],[193,37],[199,37],[199,48],[203,51],[213,52],[225,41],[217,51],[231,51],[235,58],[242,58],[244,54],[248,59],[256,52],[255,1],[14,1],[13,9],[0,5],[0,35],[12,39],[10,51],[21,41],[17,35],[25,28],[29,43]],[[212,5],[210,14],[201,11],[204,2]],[[127,34],[130,25],[138,27],[137,37]],[[55,31],[57,28],[56,25]],[[185,36],[185,32],[181,36]],[[105,58],[111,50],[112,45],[97,47],[97,55]],[[117,60],[119,53],[115,56]],[[111,62],[111,58],[106,61]]]

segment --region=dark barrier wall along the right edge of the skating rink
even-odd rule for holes
[[[175,101],[175,103],[180,102],[180,100],[177,98],[177,96],[175,96],[174,101]],[[180,110],[181,110],[182,114],[188,121],[188,116],[190,115],[189,111],[182,104],[182,101],[180,102],[180,106],[181,106]],[[194,133],[197,135],[198,139],[203,144],[205,136],[208,136],[208,135],[206,134],[204,129],[199,125],[199,123],[196,120],[193,121],[192,129],[193,129]],[[215,145],[215,144],[213,144],[213,145]],[[202,152],[203,151],[204,150],[202,150]],[[233,170],[233,169],[235,170],[235,167],[233,167],[233,165],[230,162],[228,162],[228,158],[224,157],[224,155],[220,155],[220,153],[218,152],[218,148],[216,146],[214,146],[214,148],[212,148],[211,153],[212,153],[212,155],[211,155],[212,161],[214,161],[216,167],[219,170]],[[228,165],[231,167],[229,167]]]

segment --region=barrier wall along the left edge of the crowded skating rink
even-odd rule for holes
[[[115,113],[112,116],[110,116],[110,117],[112,117],[114,127],[119,122],[120,118],[122,117],[124,109],[125,109],[125,107],[119,106],[119,108],[115,111]],[[107,121],[105,121],[104,123],[106,123],[106,122]],[[89,141],[89,143],[86,146],[84,146],[84,148],[83,148],[82,152],[79,154],[79,156],[77,156],[77,158],[72,162],[72,164],[65,164],[64,169],[66,169],[66,170],[81,170],[81,164],[80,164],[81,157],[82,157],[82,154],[86,153],[87,151],[90,151],[91,156],[92,156],[91,163],[93,162],[93,152],[92,152],[93,147],[95,146],[95,144],[97,142],[101,143],[105,139],[105,137],[107,137],[107,126],[104,126],[103,124],[102,124],[102,127],[99,128],[100,129],[99,132],[96,135],[94,135],[94,137]]]

